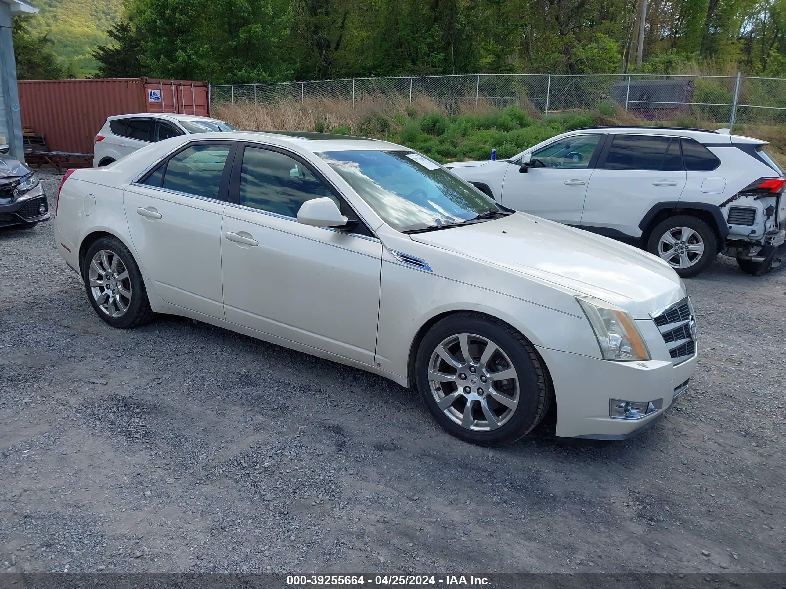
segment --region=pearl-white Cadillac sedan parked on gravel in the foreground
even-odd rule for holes
[[[400,145],[172,137],[69,170],[57,201],[57,248],[113,327],[173,313],[371,371],[476,444],[553,402],[558,436],[630,437],[696,365],[666,262],[514,213]]]

